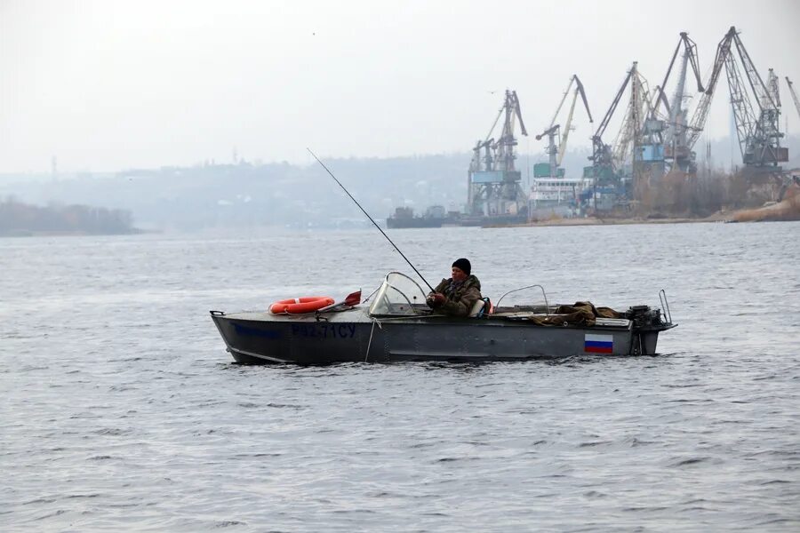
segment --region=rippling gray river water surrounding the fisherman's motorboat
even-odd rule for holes
[[[657,356],[233,364],[208,310],[369,294],[377,231],[0,239],[4,531],[800,529],[800,224],[389,234],[627,308]]]

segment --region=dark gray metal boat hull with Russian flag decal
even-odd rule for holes
[[[668,329],[635,330],[627,320],[581,327],[492,317],[381,319],[360,309],[324,317],[212,311],[212,319],[236,362],[260,364],[490,362],[655,354],[660,330]]]

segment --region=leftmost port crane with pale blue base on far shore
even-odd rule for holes
[[[492,133],[503,117],[500,137]],[[522,135],[527,136],[522,111],[516,91],[506,91],[503,107],[492,123],[484,140],[473,148],[468,171],[468,211],[470,215],[517,214],[525,206],[525,195],[520,185],[522,172],[516,170],[516,123]],[[484,154],[481,155],[481,150]]]

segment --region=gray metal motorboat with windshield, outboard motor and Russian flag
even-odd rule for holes
[[[362,302],[359,292],[299,314],[275,313],[277,306],[271,311],[210,313],[228,352],[236,362],[250,364],[644,355],[655,354],[659,333],[676,326],[664,290],[660,306],[631,306],[620,313],[588,302],[550,305],[545,290],[531,285],[508,291],[497,305],[489,298],[479,300],[465,317],[436,314],[426,295],[412,277],[390,272],[371,302]],[[507,297],[512,301],[521,296],[522,303],[503,306]],[[524,303],[528,298],[531,303]]]

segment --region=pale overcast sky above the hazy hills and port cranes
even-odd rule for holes
[[[535,152],[572,74],[597,123],[632,61],[659,84],[687,31],[705,81],[731,26],[800,133],[796,0],[0,0],[0,172],[466,151],[507,88]],[[716,94],[712,138],[730,129],[724,78]]]

